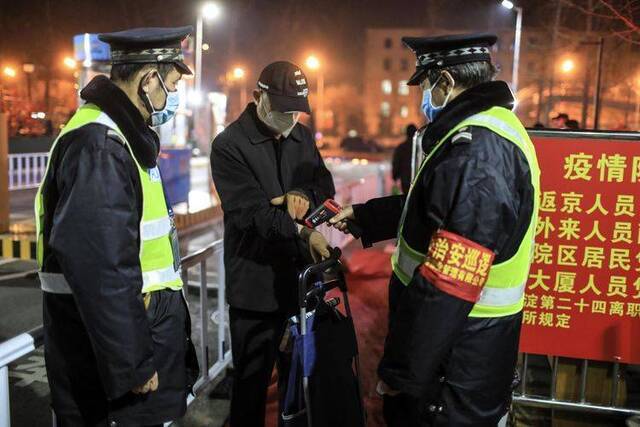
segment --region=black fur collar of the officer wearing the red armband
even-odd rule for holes
[[[422,148],[428,152],[458,123],[492,107],[513,108],[513,93],[503,81],[481,83],[465,90],[447,104],[436,120],[429,124],[422,138]]]

